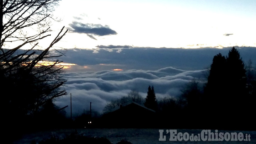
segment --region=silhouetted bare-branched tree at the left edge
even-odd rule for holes
[[[58,1],[0,0],[0,90],[6,121],[14,125],[14,119],[32,116],[46,102],[66,94],[60,89],[65,80],[56,60],[62,54],[51,55],[49,50],[68,30],[63,27],[46,48],[36,50],[50,36]]]

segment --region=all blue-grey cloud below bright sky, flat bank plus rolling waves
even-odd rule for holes
[[[149,85],[155,88],[156,96],[176,97],[186,84],[196,78],[207,78],[214,55],[227,55],[231,48],[134,48],[129,46],[98,46],[98,49],[68,49],[61,60],[74,63],[66,70],[64,78],[69,94],[58,98],[58,106],[70,105],[74,114],[92,109],[102,112],[105,105],[115,98],[127,96],[138,90],[145,97]],[[119,51],[119,53],[117,53]],[[256,48],[238,48],[245,64],[249,59],[256,62]],[[94,53],[94,52],[97,53]],[[254,65],[253,65],[254,66]],[[123,69],[123,71],[113,71]],[[70,107],[65,109],[70,113]]]

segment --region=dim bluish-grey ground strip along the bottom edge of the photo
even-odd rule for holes
[[[41,140],[48,139],[50,137],[58,137],[58,138],[65,138],[66,135],[71,133],[81,134],[83,136],[88,137],[104,137],[110,140],[112,144],[116,144],[123,139],[126,139],[128,142],[132,144],[167,144],[170,143],[170,133],[166,134],[166,129],[163,129],[163,135],[166,136],[166,141],[159,141],[160,133],[159,129],[62,129],[62,130],[51,130],[51,131],[44,131],[44,132],[36,132],[31,134],[24,134],[20,140],[16,140],[14,144],[31,144],[32,141],[38,143]],[[177,129],[177,133],[188,133],[189,135],[198,135],[201,134],[202,130],[191,130],[191,129]],[[215,133],[215,130],[211,130],[211,132]],[[225,130],[218,130],[218,132],[223,133],[243,133],[244,135],[250,134],[250,141],[174,141],[171,143],[256,143],[256,131],[225,131]],[[248,140],[248,139],[247,139]]]

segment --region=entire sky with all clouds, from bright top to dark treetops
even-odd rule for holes
[[[52,36],[69,31],[62,47],[68,95],[55,101],[73,113],[102,112],[115,98],[137,90],[146,97],[177,97],[193,79],[207,79],[218,53],[238,48],[245,63],[256,59],[255,0],[62,0]],[[193,49],[190,49],[193,48]],[[195,49],[196,48],[196,49]],[[69,114],[70,107],[65,108]]]

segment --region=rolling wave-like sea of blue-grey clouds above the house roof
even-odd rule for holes
[[[66,73],[66,91],[72,94],[74,113],[92,109],[102,112],[105,105],[115,98],[127,96],[131,90],[139,91],[144,98],[149,85],[153,85],[157,98],[177,97],[192,79],[204,79],[205,70],[184,71],[173,67],[158,70],[126,70]],[[58,106],[70,105],[70,96],[58,98]],[[70,108],[70,107],[69,107]],[[70,113],[66,108],[67,113]]]

